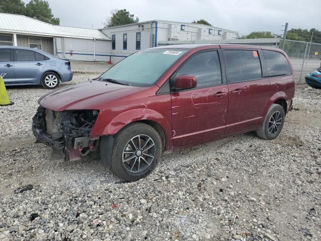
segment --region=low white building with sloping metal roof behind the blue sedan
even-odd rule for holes
[[[0,13],[0,45],[38,48],[70,60],[107,61],[110,39],[96,29],[63,27]]]

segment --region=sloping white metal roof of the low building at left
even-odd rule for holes
[[[95,38],[110,40],[110,38],[108,38],[97,29],[84,29],[52,25],[22,15],[2,13],[0,13],[0,32],[80,39]]]

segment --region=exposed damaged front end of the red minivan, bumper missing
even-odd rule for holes
[[[91,137],[98,110],[65,110],[62,112],[38,107],[32,130],[37,141],[62,150],[65,160],[79,160],[95,151],[99,137]]]

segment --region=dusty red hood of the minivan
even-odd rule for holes
[[[86,109],[89,106],[137,92],[141,87],[126,86],[110,82],[91,80],[50,92],[38,103],[48,109]]]

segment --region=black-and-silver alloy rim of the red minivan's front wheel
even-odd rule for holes
[[[129,172],[142,172],[153,162],[155,151],[155,143],[149,136],[137,135],[125,145],[122,163]]]

